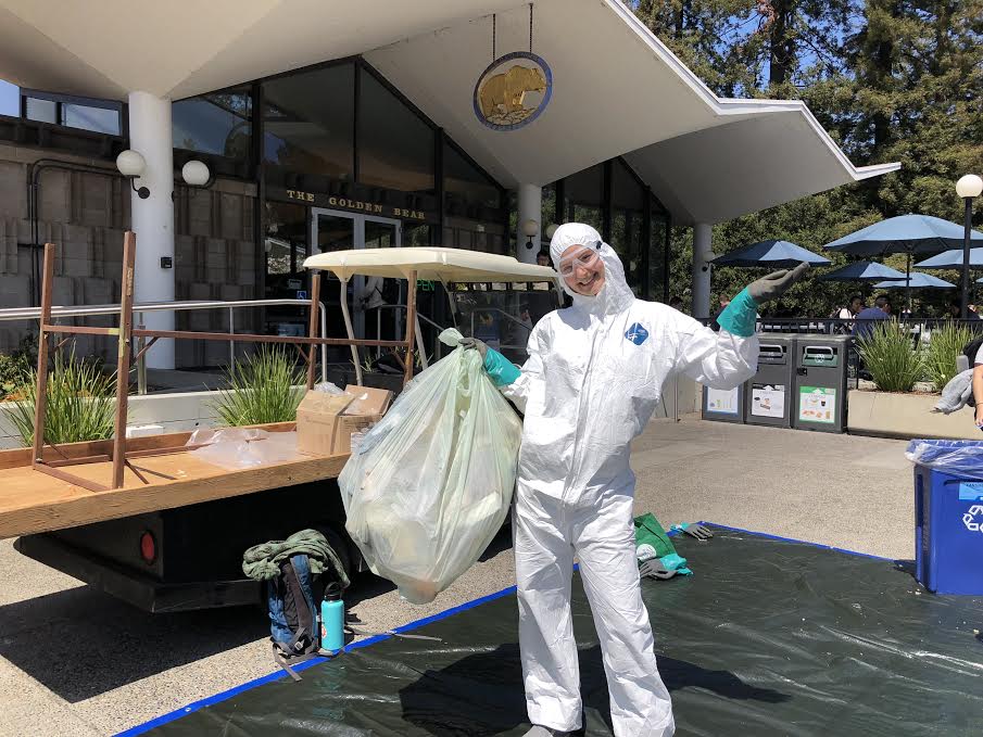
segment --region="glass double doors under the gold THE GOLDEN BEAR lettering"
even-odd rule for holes
[[[349,249],[394,249],[402,244],[403,226],[400,220],[339,209],[311,208],[312,254]],[[338,278],[325,274],[323,279],[320,294],[328,309],[329,332],[343,335]],[[382,280],[378,278],[355,277],[349,282],[349,306],[352,308],[352,327],[356,338],[389,340],[402,334],[402,315],[399,309],[382,306]],[[340,330],[331,331],[330,323],[340,326]]]

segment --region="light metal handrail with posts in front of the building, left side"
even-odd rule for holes
[[[272,306],[303,306],[310,307],[311,300],[236,300],[231,302],[206,300],[188,301],[188,302],[147,302],[134,304],[134,313],[139,316],[139,325],[143,322],[144,313],[177,313],[189,312],[192,309],[228,309],[229,310],[229,333],[236,332],[235,310],[237,307],[272,307]],[[323,302],[317,303],[318,313],[320,315],[320,334],[325,335],[327,330],[327,309]],[[71,317],[99,317],[113,316],[119,314],[119,305],[92,305],[89,307],[52,307],[52,321]],[[15,320],[38,320],[41,317],[40,307],[9,307],[0,309],[0,322]],[[144,339],[140,339],[140,347]],[[327,381],[327,364],[328,364],[328,346],[320,346],[320,380]],[[236,366],[236,340],[229,340],[229,367],[235,370]],[[147,358],[146,354],[141,355],[137,360],[137,393],[147,394]],[[133,369],[130,369],[133,370]]]

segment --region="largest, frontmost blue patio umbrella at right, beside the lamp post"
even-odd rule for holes
[[[849,236],[827,243],[830,251],[840,251],[855,256],[887,255],[904,253],[908,256],[905,271],[911,271],[912,254],[930,254],[961,249],[963,228],[955,223],[931,215],[900,215],[874,223]],[[973,240],[983,242],[983,233],[973,233]],[[959,263],[962,263],[961,252]],[[905,278],[905,277],[903,277]],[[906,296],[911,308],[910,285]]]

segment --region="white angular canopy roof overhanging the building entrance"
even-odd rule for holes
[[[854,166],[799,101],[718,98],[619,0],[537,0],[532,47],[553,69],[552,102],[521,130],[490,130],[471,97],[492,58],[492,13],[496,53],[527,50],[517,0],[211,0],[193,13],[186,2],[0,0],[0,78],[178,99],[363,54],[502,185],[623,155],[680,224],[898,168]]]

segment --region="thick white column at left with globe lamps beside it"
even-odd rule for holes
[[[136,302],[174,301],[174,155],[171,140],[171,101],[148,92],[129,94],[129,147],[147,162],[136,186],[150,196],[130,196],[133,229],[137,233]],[[161,266],[171,259],[171,268]],[[147,313],[151,330],[174,330],[174,313]],[[174,341],[162,340],[147,352],[151,368],[174,368]]]

